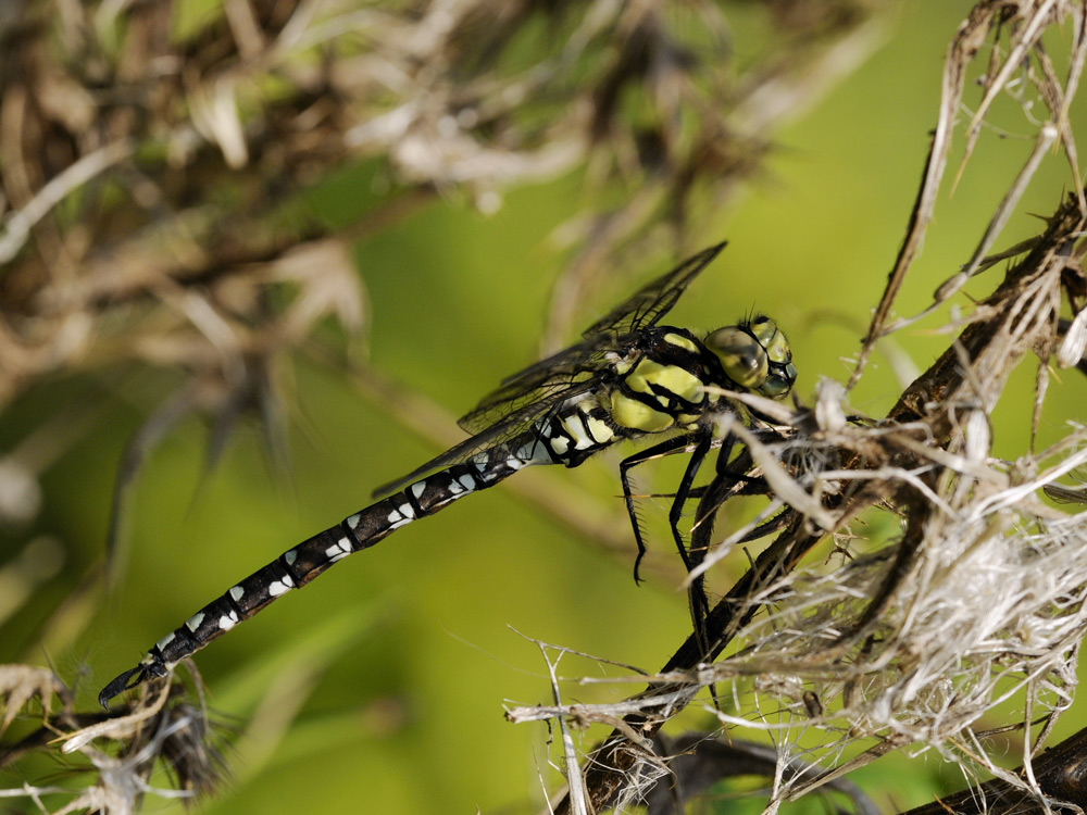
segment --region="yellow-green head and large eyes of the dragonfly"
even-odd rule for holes
[[[789,341],[770,317],[759,315],[740,325],[719,328],[703,344],[741,388],[778,399],[797,380]]]

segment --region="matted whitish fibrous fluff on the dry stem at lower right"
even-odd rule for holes
[[[1054,452],[1085,438],[1075,431]],[[903,530],[865,552],[852,538],[848,554],[751,597],[763,613],[700,675],[730,682],[744,713],[719,713],[722,723],[770,731],[783,758],[799,749],[798,726],[809,745],[823,730],[804,760],[825,768],[874,739],[969,763],[984,755],[973,728],[998,705],[989,727],[1066,709],[1087,630],[1087,513],[1055,510],[1041,492],[1087,450],[1029,475],[1051,459],[989,460],[974,467],[985,478],[946,468],[933,505],[912,510],[924,515],[920,542]]]

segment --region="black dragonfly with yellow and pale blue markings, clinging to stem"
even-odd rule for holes
[[[579,342],[503,380],[460,419],[470,438],[378,488],[374,498],[385,497],[376,503],[291,547],[232,586],[107,685],[99,702],[108,709],[122,692],[167,676],[178,662],[273,601],[397,529],[493,487],[524,467],[576,467],[621,440],[671,434],[620,463],[638,548],[636,581],[647,550],[629,471],[651,457],[692,451],[670,513],[689,570],[691,560],[677,525],[698,465],[713,443],[712,416],[728,409],[720,391],[780,399],[797,378],[788,340],[767,316],[753,315],[704,335],[659,325],[724,248],[725,242],[717,243],[685,260],[589,326]]]

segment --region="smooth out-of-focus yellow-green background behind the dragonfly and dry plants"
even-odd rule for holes
[[[769,172],[703,234],[690,236],[691,250],[722,238],[730,243],[669,322],[712,328],[758,309],[788,333],[802,400],[820,377],[848,377],[923,172],[947,45],[970,5],[909,2],[892,10],[886,43],[784,130]],[[738,33],[750,30],[752,49],[760,36],[772,36],[755,8],[737,8],[733,22]],[[737,36],[741,52],[745,42]],[[1001,109],[1000,117],[1008,133],[983,135],[953,197],[945,185],[899,314],[927,305],[939,283],[969,260],[1029,153],[1033,142],[1015,137],[1033,133],[1022,125],[1023,112]],[[329,179],[315,193],[314,210],[337,221],[364,214],[380,195],[374,175],[364,165]],[[490,216],[457,201],[438,203],[361,242],[357,260],[372,308],[372,364],[433,399],[452,421],[533,361],[563,262],[549,236],[576,209],[583,187],[575,174],[514,190]],[[1051,212],[1070,187],[1064,160],[1049,156],[998,248],[1037,231],[1038,222],[1026,213]],[[675,260],[647,258],[641,267],[624,269],[626,288],[614,300]],[[999,274],[991,271],[969,290],[984,294]],[[960,296],[957,303],[965,308],[969,300]],[[585,303],[582,322],[610,305]],[[946,314],[892,338],[892,350],[919,373],[947,347],[934,333]],[[998,411],[997,455],[1013,459],[1027,450],[1035,366],[1034,360],[1021,365],[1009,388],[1019,398]],[[116,461],[141,411],[158,397],[118,392],[101,431],[46,478],[39,531],[61,542],[64,565],[4,628],[4,660],[48,661],[61,676],[78,676],[89,705],[105,681],[237,578],[366,505],[376,486],[440,452],[343,377],[305,362],[295,375],[288,478],[268,466],[250,426],[232,437],[205,475],[207,428],[185,423],[138,476],[126,532],[130,570],[122,587],[88,610],[93,623],[76,647],[59,653],[21,631],[35,630],[101,557]],[[1087,397],[1082,376],[1060,378],[1050,390],[1041,443],[1082,415],[1078,405]],[[851,405],[883,415],[901,386],[887,356],[877,353]],[[4,437],[25,432],[45,406],[79,399],[79,387],[35,391],[7,417]],[[615,467],[628,453],[609,451],[578,471],[523,475],[571,486],[590,512],[622,526]],[[646,514],[663,515],[662,506],[650,505]],[[276,603],[197,657],[210,704],[224,716],[253,719],[227,752],[234,773],[228,789],[196,811],[540,808],[544,787],[551,792],[558,783],[549,766],[558,753],[545,725],[514,726],[502,715],[505,704],[549,700],[546,665],[525,637],[647,670],[662,665],[689,622],[671,542],[654,534],[651,547],[650,579],[639,588],[630,574],[633,543],[622,556],[603,552],[503,486],[350,559],[316,588]],[[596,670],[574,657],[559,667],[566,677]],[[566,685],[564,701],[619,700],[633,687]],[[710,724],[697,712],[685,720]],[[1074,726],[1070,717],[1062,729]],[[602,735],[590,730],[578,738],[588,749]],[[915,779],[909,787],[902,773]],[[886,807],[925,803],[961,785],[936,761],[897,756],[855,780]],[[173,806],[179,804],[147,803],[148,811]]]

